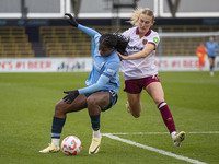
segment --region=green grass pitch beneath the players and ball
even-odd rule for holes
[[[88,72],[0,73],[1,164],[193,163],[105,136],[100,152],[89,155],[92,128],[87,109],[68,114],[61,134],[61,140],[70,134],[80,138],[82,151],[79,155],[38,153],[50,142],[54,107],[64,96],[62,91],[84,87],[88,75]],[[146,92],[141,96],[141,117],[136,119],[126,112],[122,74],[117,104],[101,114],[101,132],[126,132],[114,136],[197,163],[219,163],[219,72],[215,77],[205,71],[160,72],[160,80],[177,130],[187,132],[181,148],[173,145],[157,106]]]

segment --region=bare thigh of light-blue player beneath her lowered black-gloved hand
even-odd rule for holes
[[[56,110],[62,113],[78,112],[88,107],[87,97],[84,94],[79,95],[71,104],[67,104],[64,99],[60,99],[56,104]]]

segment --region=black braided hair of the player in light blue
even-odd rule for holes
[[[100,44],[103,44],[108,48],[115,48],[120,54],[126,52],[128,42],[128,39],[126,39],[123,35],[117,33],[106,33],[103,34],[100,38]]]

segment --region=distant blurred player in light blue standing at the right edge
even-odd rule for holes
[[[209,40],[206,43],[206,50],[208,54],[208,59],[210,62],[210,75],[214,75],[215,58],[218,52],[218,44],[214,40],[214,37],[210,36]]]

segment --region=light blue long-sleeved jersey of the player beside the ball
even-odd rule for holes
[[[119,89],[119,66],[120,66],[120,59],[114,50],[110,56],[102,57],[99,51],[99,44],[100,44],[100,37],[101,34],[96,31],[82,26],[79,24],[79,30],[83,31],[88,35],[90,35],[94,42],[95,42],[95,48],[93,54],[93,68],[92,71],[85,82],[85,84],[89,87],[79,90],[79,93],[88,93],[88,92],[94,92],[95,90],[113,90],[115,93],[118,93]],[[100,77],[105,77],[105,79],[108,79],[108,81],[103,85],[96,85],[100,83]],[[92,87],[94,86],[95,87]],[[100,86],[100,87],[99,87]],[[91,89],[91,90],[89,90]]]

